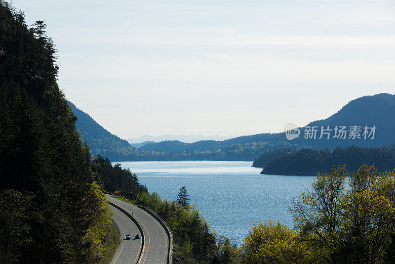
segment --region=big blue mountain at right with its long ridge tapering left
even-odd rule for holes
[[[320,134],[318,133],[316,139],[305,139],[307,126],[316,126],[326,128],[330,126],[332,129],[331,133],[334,133],[335,126],[360,126],[363,130],[364,126],[373,127],[377,129],[375,131],[374,139],[364,138],[346,138],[337,139],[333,138],[326,139],[325,136],[318,139]],[[215,140],[203,140],[194,143],[182,143],[180,141],[166,141],[152,144],[146,144],[140,149],[150,151],[166,151],[166,152],[182,152],[182,151],[207,151],[214,149],[222,149],[236,144],[252,143],[252,142],[270,142],[285,147],[285,143],[291,143],[297,148],[303,148],[307,146],[314,149],[329,148],[334,149],[337,146],[347,147],[350,145],[356,145],[360,147],[380,147],[395,143],[395,95],[388,93],[380,93],[371,96],[363,96],[355,100],[350,101],[340,111],[328,117],[327,119],[317,120],[311,122],[306,127],[299,128],[301,136],[294,140],[287,140],[285,138],[285,132],[281,133],[261,133],[255,135],[239,136],[223,141]],[[262,149],[262,153],[268,149]]]

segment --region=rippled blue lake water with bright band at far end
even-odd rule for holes
[[[260,175],[252,162],[143,161],[113,162],[136,173],[148,191],[176,200],[186,186],[212,229],[240,245],[254,222],[276,220],[293,227],[291,199],[310,188],[312,176]]]

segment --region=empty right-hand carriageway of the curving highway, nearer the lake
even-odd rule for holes
[[[163,226],[146,211],[132,204],[112,198],[111,195],[106,194],[106,197],[114,204],[133,213],[135,219],[140,223],[145,237],[145,248],[140,264],[166,264],[169,238]]]

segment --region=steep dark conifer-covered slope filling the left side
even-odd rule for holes
[[[112,225],[55,51],[0,1],[0,263],[99,263]]]

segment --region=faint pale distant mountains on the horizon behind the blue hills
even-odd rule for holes
[[[135,143],[144,143],[147,141],[153,141],[153,142],[160,142],[160,141],[181,141],[185,143],[193,143],[196,141],[200,140],[225,140],[229,138],[234,138],[236,135],[171,135],[171,134],[165,134],[165,135],[158,135],[158,136],[152,136],[152,135],[143,135],[140,137],[136,138],[128,138],[126,139],[132,146]],[[152,143],[152,142],[150,142]]]

